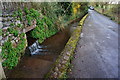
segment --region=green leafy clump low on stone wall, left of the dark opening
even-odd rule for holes
[[[5,61],[2,63],[3,67],[12,69],[18,64],[21,52],[25,48],[25,39],[23,39],[24,33],[22,33],[20,36],[20,41],[16,48],[13,48],[10,39],[4,43],[1,55],[2,58],[5,59]]]

